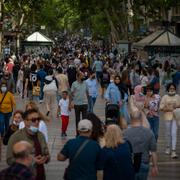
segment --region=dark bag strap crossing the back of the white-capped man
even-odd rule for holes
[[[69,171],[70,171],[70,168],[71,168],[71,166],[72,166],[72,163],[75,162],[75,160],[77,159],[77,157],[79,156],[79,154],[82,152],[82,150],[83,150],[84,147],[88,144],[89,141],[90,141],[90,140],[87,139],[87,140],[85,140],[85,141],[81,144],[81,146],[78,148],[76,154],[75,154],[74,157],[72,158],[71,162],[69,162],[69,165],[67,166],[67,168],[66,168],[65,171],[64,171],[64,176],[63,176],[64,180],[68,180]]]

